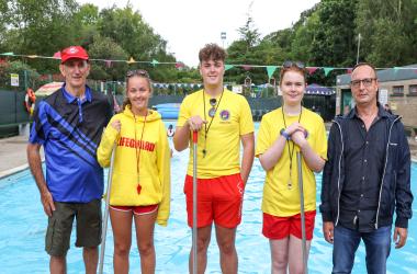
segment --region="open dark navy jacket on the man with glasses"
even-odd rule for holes
[[[323,173],[322,204],[319,210],[323,221],[339,221],[340,193],[345,183],[343,145],[347,134],[347,116],[336,116],[330,128],[327,159]],[[375,229],[393,224],[396,212],[395,227],[407,228],[412,218],[413,194],[410,191],[410,153],[401,117],[388,114],[385,119],[387,140],[384,171],[380,186],[380,198],[376,210]]]

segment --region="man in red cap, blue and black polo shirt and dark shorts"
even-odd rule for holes
[[[86,84],[90,64],[82,47],[64,49],[59,70],[64,85],[35,110],[27,161],[48,216],[45,250],[50,255],[50,273],[66,273],[74,218],[76,247],[83,248],[86,273],[95,273],[103,194],[103,170],[95,151],[112,111],[106,96]],[[45,150],[46,178],[41,146]]]

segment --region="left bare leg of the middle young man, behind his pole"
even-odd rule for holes
[[[198,256],[198,273],[204,274],[207,266],[207,248],[212,237],[212,225],[196,229],[196,256]],[[193,249],[190,251],[189,271],[192,273]],[[192,273],[193,274],[193,273]]]

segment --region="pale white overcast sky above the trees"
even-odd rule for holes
[[[102,8],[124,8],[128,0],[77,0]],[[239,38],[249,7],[255,26],[264,35],[291,26],[301,12],[319,0],[132,0],[145,21],[168,42],[168,52],[189,66],[199,62],[199,49],[207,43],[227,47]],[[252,3],[252,4],[251,4]],[[221,33],[226,33],[222,41]]]

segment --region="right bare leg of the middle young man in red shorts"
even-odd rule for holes
[[[222,272],[225,274],[237,273],[236,228],[225,228],[216,225],[216,239],[221,251]]]

